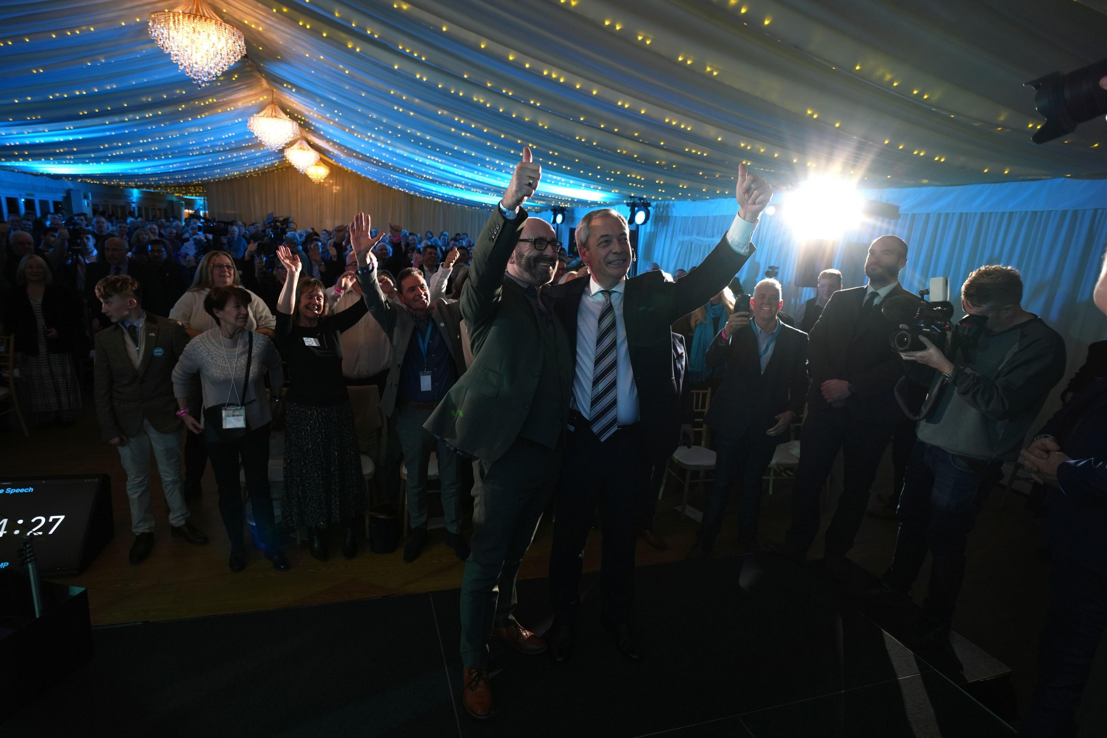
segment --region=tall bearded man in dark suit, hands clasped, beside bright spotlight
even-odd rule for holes
[[[901,238],[873,240],[865,262],[869,284],[835,293],[809,336],[811,386],[792,493],[792,527],[784,545],[774,547],[800,561],[806,557],[819,532],[819,488],[841,450],[842,492],[826,533],[826,564],[836,577],[846,574],[846,552],[865,520],[892,428],[903,414],[893,394],[903,362],[889,342],[896,326],[880,305],[910,296],[899,284],[904,265],[907,244]]]

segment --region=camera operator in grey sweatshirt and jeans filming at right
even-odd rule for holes
[[[904,597],[929,549],[933,566],[917,645],[949,636],[965,572],[965,542],[1005,461],[1018,458],[1031,423],[1065,373],[1065,342],[1041,318],[1022,308],[1017,269],[983,266],[961,288],[961,306],[979,316],[975,348],[950,357],[924,336],[925,348],[904,351],[909,375],[937,396],[919,421],[898,510],[896,552],[870,596]],[[956,349],[956,345],[952,345]]]

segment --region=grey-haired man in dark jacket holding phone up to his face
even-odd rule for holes
[[[789,439],[793,418],[804,412],[807,335],[777,319],[784,300],[776,279],[757,283],[749,303],[753,322],[749,307],[734,306],[707,349],[707,366],[726,365],[726,375],[704,418],[715,433],[715,479],[689,558],[711,555],[731,484],[738,475],[738,544],[757,550],[762,475],[776,447]]]

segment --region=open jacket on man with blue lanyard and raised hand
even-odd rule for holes
[[[392,366],[389,367],[389,378],[384,382],[384,393],[381,394],[381,408],[384,410],[384,414],[391,417],[396,407],[396,397],[400,393],[404,358],[407,356],[407,347],[415,332],[415,319],[407,310],[396,307],[385,299],[384,293],[381,291],[381,284],[376,280],[375,270],[370,271],[365,278],[362,278],[360,271],[359,269],[358,279],[365,305],[369,306],[369,312],[392,341]],[[461,377],[465,373],[461,305],[457,300],[439,298],[435,300],[433,307],[434,311],[431,317],[445,337],[449,356],[454,360],[454,368],[457,370],[457,376]]]

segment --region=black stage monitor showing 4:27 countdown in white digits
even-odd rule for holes
[[[28,535],[40,572],[79,572],[112,535],[107,476],[0,479],[0,561]]]

